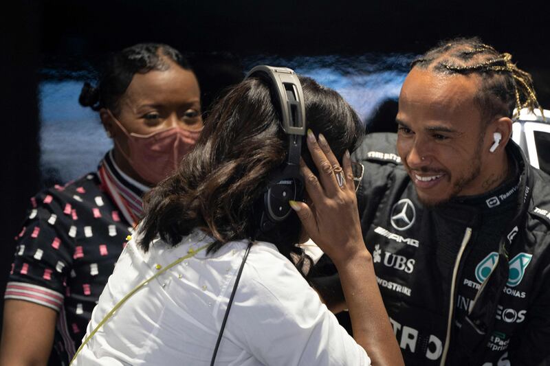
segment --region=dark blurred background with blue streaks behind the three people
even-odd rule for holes
[[[533,75],[539,100],[548,108],[549,25],[544,7],[536,1],[435,0],[4,3],[0,294],[28,198],[72,174],[53,166],[64,158],[56,150],[55,133],[83,135],[85,128],[96,128],[72,118],[84,113],[74,109],[81,82],[94,76],[109,52],[141,42],[180,49],[192,59],[206,107],[221,88],[239,80],[246,67],[265,60],[286,62],[281,66],[296,67],[340,91],[367,125],[384,129],[393,128],[386,121],[395,117],[399,82],[410,59],[454,36],[481,36],[511,53],[518,66]],[[374,74],[377,78],[370,78]],[[362,89],[362,82],[368,88]],[[363,93],[367,89],[369,93]],[[74,96],[58,97],[60,90]],[[65,113],[65,120],[57,111]],[[66,158],[75,161],[70,154]]]

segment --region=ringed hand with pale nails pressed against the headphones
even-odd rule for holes
[[[366,255],[357,198],[353,186],[353,172],[349,152],[342,159],[342,167],[323,135],[315,138],[307,131],[307,147],[311,153],[319,178],[300,161],[305,187],[311,205],[291,201],[309,237],[338,266],[357,255]]]

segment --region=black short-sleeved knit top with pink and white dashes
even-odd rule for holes
[[[31,198],[5,299],[59,313],[54,350],[63,364],[86,334],[91,311],[142,215],[144,190],[108,152],[98,172]]]

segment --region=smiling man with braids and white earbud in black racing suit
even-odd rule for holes
[[[550,176],[510,139],[514,107],[538,103],[509,54],[477,38],[442,43],[412,63],[397,135],[369,135],[354,153],[362,230],[406,365],[549,358]]]

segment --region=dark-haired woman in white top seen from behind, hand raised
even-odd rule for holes
[[[219,365],[402,363],[355,201],[348,150],[363,128],[338,93],[300,82],[308,203],[291,201],[283,224],[260,229],[267,181],[289,140],[269,85],[248,78],[214,106],[177,173],[147,194],[75,365],[209,365],[219,334]],[[296,247],[307,236],[340,271],[355,340],[307,282]]]

